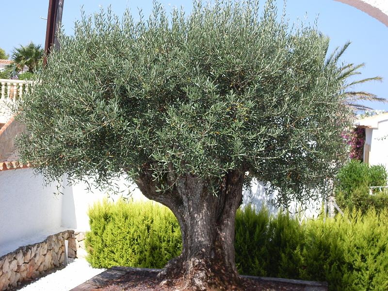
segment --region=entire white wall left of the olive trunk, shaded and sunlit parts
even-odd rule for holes
[[[146,200],[126,177],[113,182],[114,191],[121,194],[109,189],[89,191],[86,183],[69,185],[66,178],[58,194],[57,184],[44,186],[43,178],[34,176],[31,168],[0,171],[0,256],[65,229],[89,230],[87,210],[104,198]]]

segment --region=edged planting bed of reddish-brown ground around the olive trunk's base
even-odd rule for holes
[[[160,269],[112,267],[71,291],[175,291],[161,287]],[[327,283],[281,278],[241,276],[245,291],[327,291]]]

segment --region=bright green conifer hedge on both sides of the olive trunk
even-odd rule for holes
[[[89,210],[88,260],[94,267],[161,268],[180,253],[173,214],[122,201]],[[251,208],[236,215],[240,274],[327,281],[329,290],[388,290],[388,210],[300,221]]]

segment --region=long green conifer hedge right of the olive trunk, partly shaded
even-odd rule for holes
[[[236,263],[244,275],[327,281],[329,290],[388,290],[387,233],[387,209],[300,222],[246,208],[236,216]]]

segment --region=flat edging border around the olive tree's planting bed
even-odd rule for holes
[[[91,291],[98,287],[107,285],[110,280],[118,279],[123,275],[127,275],[132,271],[149,271],[149,272],[160,272],[161,269],[147,269],[147,268],[131,268],[131,267],[119,267],[115,266],[109,268],[108,270],[94,276],[93,278],[87,280],[81,285],[73,288],[70,291]],[[283,278],[271,278],[271,277],[256,277],[256,276],[245,276],[241,275],[244,278],[264,280],[269,282],[282,282],[295,285],[304,285],[305,288],[303,291],[327,291],[326,282],[318,281],[304,281],[304,280],[294,280],[294,279],[283,279]]]

